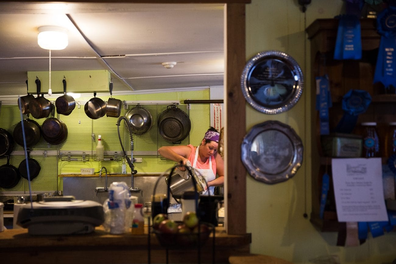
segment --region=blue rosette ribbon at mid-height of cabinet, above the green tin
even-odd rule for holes
[[[342,101],[342,108],[344,115],[335,128],[337,133],[352,133],[358,115],[366,112],[369,104],[371,103],[371,95],[364,90],[349,90],[344,96]]]

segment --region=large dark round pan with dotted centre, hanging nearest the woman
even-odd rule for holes
[[[168,105],[158,118],[158,130],[161,137],[167,141],[181,142],[188,136],[190,129],[190,118],[175,104]]]

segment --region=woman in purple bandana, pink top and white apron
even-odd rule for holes
[[[209,192],[213,194],[215,186],[224,183],[224,162],[223,158],[217,153],[219,147],[220,133],[213,127],[206,131],[204,138],[199,146],[191,144],[187,146],[163,146],[158,152],[164,158],[174,160],[184,165],[188,161],[192,164],[195,171],[202,175],[208,182]],[[185,167],[180,167],[185,171]],[[216,173],[219,177],[216,178]],[[208,194],[208,190],[204,192]]]

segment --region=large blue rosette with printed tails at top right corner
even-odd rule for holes
[[[389,6],[379,13],[377,31],[381,34],[381,40],[373,83],[396,86],[396,7]]]

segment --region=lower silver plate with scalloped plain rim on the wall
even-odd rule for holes
[[[255,125],[242,142],[242,162],[256,180],[268,184],[295,175],[303,162],[303,143],[284,123],[267,121]]]

